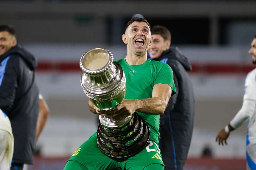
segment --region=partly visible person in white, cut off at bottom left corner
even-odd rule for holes
[[[8,116],[0,109],[0,170],[9,170],[13,158],[13,133]]]

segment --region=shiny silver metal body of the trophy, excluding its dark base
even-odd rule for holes
[[[126,78],[122,67],[114,62],[113,54],[104,48],[94,48],[80,59],[81,86],[92,103],[102,110],[114,110],[121,105],[126,90]],[[132,116],[114,120],[99,116],[103,126],[122,127]]]

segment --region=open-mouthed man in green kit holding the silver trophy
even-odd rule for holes
[[[176,93],[173,72],[169,65],[147,59],[152,43],[150,25],[143,18],[132,18],[125,27],[122,40],[127,44],[127,55],[117,60],[126,77],[123,103],[114,111],[103,111],[88,102],[90,111],[102,116],[118,118],[137,112],[150,128],[146,147],[117,162],[104,155],[97,146],[96,133],[84,142],[67,161],[64,170],[164,170],[158,147],[159,117],[164,113],[171,95]]]

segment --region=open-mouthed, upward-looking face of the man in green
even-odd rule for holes
[[[146,54],[152,42],[149,26],[145,22],[136,21],[127,27],[122,39],[128,50],[137,56]]]

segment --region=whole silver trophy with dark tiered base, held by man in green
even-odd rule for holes
[[[102,110],[114,110],[121,105],[126,90],[122,67],[113,61],[113,54],[104,48],[94,48],[82,56],[81,86],[90,101]],[[139,153],[147,144],[150,130],[136,112],[114,120],[99,116],[97,143],[99,149],[115,160]]]

